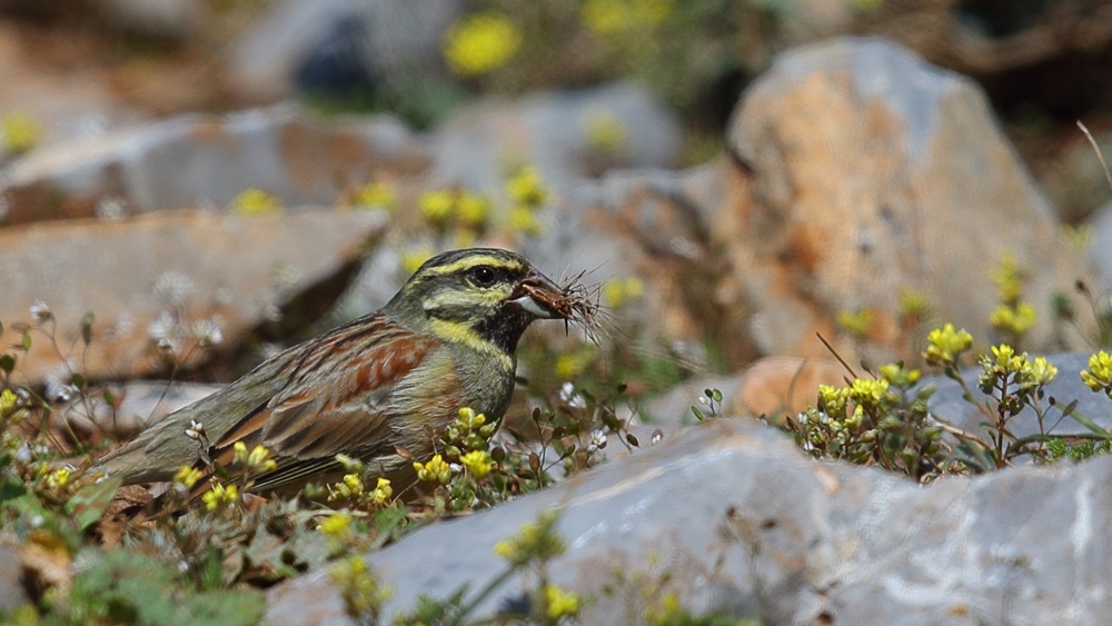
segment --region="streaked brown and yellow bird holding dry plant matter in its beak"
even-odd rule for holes
[[[460,408],[500,420],[518,340],[535,320],[573,320],[582,305],[568,305],[570,292],[517,252],[440,254],[381,309],[267,359],[90,470],[123,485],[171,480],[182,466],[211,474],[241,441],[275,461],[254,477],[256,493],[342,476],[337,455],[364,463],[368,476],[411,479],[413,459],[431,458]]]

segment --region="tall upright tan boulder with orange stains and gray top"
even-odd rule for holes
[[[838,311],[868,310],[860,356],[909,357],[905,289],[989,341],[989,275],[1005,252],[1026,275],[1040,345],[1052,297],[1084,275],[983,92],[895,44],[784,54],[744,96],[728,145],[731,189],[711,231],[736,285],[723,292],[753,308],[763,354],[824,357],[816,334],[833,338]]]

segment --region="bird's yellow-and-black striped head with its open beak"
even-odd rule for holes
[[[386,305],[415,330],[451,342],[512,355],[536,319],[566,318],[553,308],[563,290],[525,257],[497,248],[468,248],[433,257]]]

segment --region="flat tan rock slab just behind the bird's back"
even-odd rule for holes
[[[195,361],[203,350],[190,348],[205,324],[235,345],[291,298],[355,262],[385,223],[374,211],[172,211],[0,230],[2,351],[18,356],[31,384],[57,381],[50,376],[67,367],[87,378],[159,371],[165,361],[152,336],[163,336],[179,358]],[[40,299],[54,320],[42,329],[56,340],[32,330],[31,350],[23,355],[11,347],[20,342],[12,324],[33,322],[30,308]],[[86,349],[80,322],[89,311],[96,322]]]

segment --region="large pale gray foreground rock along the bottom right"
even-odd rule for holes
[[[367,558],[394,590],[389,616],[419,594],[483,588],[505,567],[495,543],[558,510],[568,550],[547,572],[593,598],[586,624],[637,623],[638,598],[664,593],[765,624],[1092,624],[1110,608],[1110,479],[1105,457],[924,488],[719,419]],[[532,584],[512,577],[473,617]],[[272,624],[349,623],[327,569],[268,602]]]

